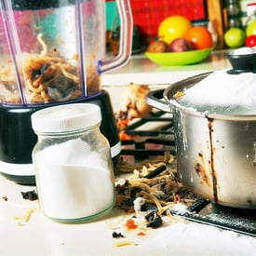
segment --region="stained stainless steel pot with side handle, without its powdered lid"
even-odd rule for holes
[[[172,100],[209,74],[152,91],[147,102],[173,114],[178,174],[188,190],[221,205],[256,209],[256,115],[201,113]]]

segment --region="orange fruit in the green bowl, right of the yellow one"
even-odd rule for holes
[[[184,34],[184,38],[188,40],[195,49],[205,49],[213,47],[212,36],[205,27],[192,27]]]

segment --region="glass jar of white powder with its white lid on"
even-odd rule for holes
[[[115,205],[110,146],[95,104],[48,107],[32,115],[33,164],[40,209],[56,222],[86,222]]]

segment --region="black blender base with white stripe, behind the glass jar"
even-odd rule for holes
[[[121,152],[115,115],[109,94],[101,90],[88,98],[67,103],[92,103],[101,108],[101,132],[107,138],[115,162]],[[56,104],[55,104],[56,105]],[[0,106],[0,173],[20,184],[35,184],[32,151],[37,136],[31,125],[31,115],[52,105]]]

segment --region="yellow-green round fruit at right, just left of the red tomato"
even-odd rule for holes
[[[245,43],[246,33],[240,28],[230,28],[224,34],[227,47],[242,47]]]

